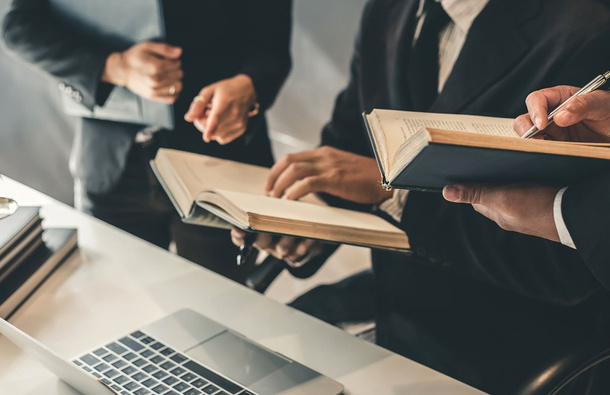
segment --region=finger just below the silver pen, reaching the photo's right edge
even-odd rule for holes
[[[555,114],[557,126],[572,126],[582,121],[600,121],[608,118],[610,93],[595,91],[574,97]]]

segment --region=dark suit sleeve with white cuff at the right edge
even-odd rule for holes
[[[570,186],[561,210],[578,253],[610,290],[610,174]]]

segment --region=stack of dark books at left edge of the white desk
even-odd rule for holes
[[[12,315],[76,245],[76,229],[43,229],[39,207],[0,219],[0,317]]]

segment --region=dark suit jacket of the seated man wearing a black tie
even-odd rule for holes
[[[351,79],[337,99],[322,144],[371,156],[361,112],[410,108],[403,75],[418,3],[368,3]],[[587,58],[581,54],[592,53],[588,42],[605,33],[609,23],[608,10],[589,0],[491,0],[430,111],[522,114],[528,93],[559,83],[583,84],[607,68],[603,52]],[[440,194],[411,192],[402,222],[416,255],[427,265],[450,267],[565,305],[578,303],[595,289],[595,279],[569,248],[503,231],[469,206],[445,202]]]

